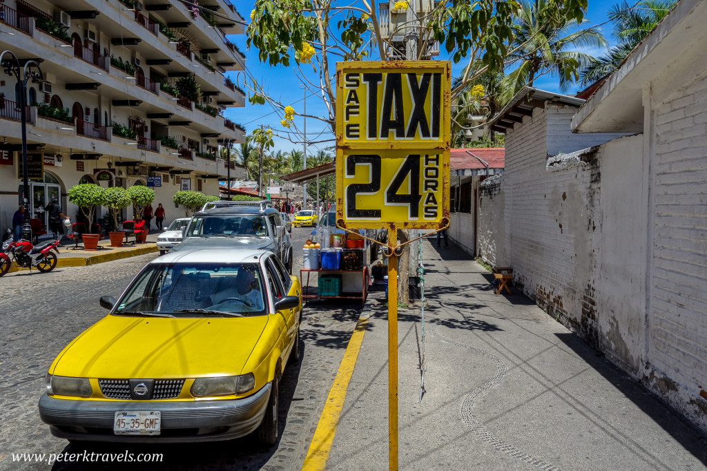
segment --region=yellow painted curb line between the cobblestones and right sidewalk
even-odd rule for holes
[[[324,470],[327,466],[327,458],[329,458],[329,450],[332,449],[332,441],[334,434],[337,432],[339,424],[339,415],[344,407],[344,399],[346,399],[346,388],[349,386],[351,374],[354,373],[358,351],[361,351],[361,343],[363,342],[363,334],[366,333],[366,325],[368,324],[368,315],[364,318],[358,318],[356,329],[351,334],[349,345],[344,352],[344,359],[341,360],[339,371],[334,378],[334,384],[329,390],[327,403],[324,405],[324,410],[319,418],[319,424],[314,432],[312,443],[310,443],[307,458],[302,465],[302,469],[306,471]]]

